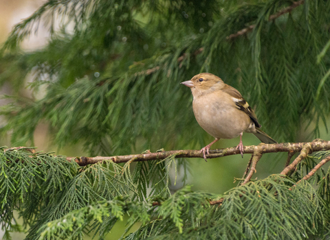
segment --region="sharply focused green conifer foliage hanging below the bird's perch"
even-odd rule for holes
[[[189,186],[171,195],[168,168],[175,156],[134,169],[131,161],[111,160],[80,167],[64,156],[25,150],[0,150],[0,194],[2,228],[18,229],[17,210],[24,227],[31,226],[27,239],[83,239],[90,232],[104,239],[126,214],[123,236],[141,225],[124,239],[305,239],[329,232],[330,170],[300,180],[329,151],[303,160],[290,178],[275,174],[223,195]]]

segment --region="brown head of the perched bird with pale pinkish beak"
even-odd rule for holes
[[[225,86],[221,78],[212,73],[199,73],[191,80],[181,82],[181,84],[188,86],[194,97],[221,90]]]

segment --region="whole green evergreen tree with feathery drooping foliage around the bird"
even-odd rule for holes
[[[39,24],[49,27],[49,43],[22,51],[21,41]],[[3,45],[0,83],[12,84],[14,93],[0,111],[7,118],[1,133],[10,132],[13,145],[33,145],[43,121],[54,145],[81,143],[90,156],[108,157],[2,147],[5,237],[21,229],[18,211],[26,239],[83,239],[94,232],[104,239],[124,215],[125,239],[329,238],[330,142],[285,143],[304,128],[312,129],[308,141],[320,136],[322,124],[327,128],[329,47],[326,0],[48,0]],[[263,129],[284,142],[245,147],[252,154],[245,174],[221,195],[190,186],[171,192],[170,168],[184,169],[185,178],[185,158],[202,156],[159,149],[205,145],[191,93],[179,85],[201,72],[244,93],[258,106]],[[43,97],[20,97],[28,73],[34,93],[47,86]],[[147,148],[159,152],[119,156]],[[288,152],[285,169],[252,180],[267,152]],[[231,154],[236,149],[210,157]]]

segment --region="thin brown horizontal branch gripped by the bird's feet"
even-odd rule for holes
[[[307,155],[307,149],[312,149],[312,152],[318,152],[321,150],[330,149],[330,141],[313,141],[311,143],[277,143],[277,144],[264,144],[245,146],[244,154],[254,154],[254,152],[259,152],[260,154],[267,154],[271,152],[300,152],[304,149],[304,155],[298,156],[298,158],[305,158]],[[230,156],[240,154],[239,149],[236,147],[228,147],[224,149],[214,149],[210,150],[210,155],[207,158],[220,158],[223,156]],[[203,158],[203,154],[199,150],[173,150],[173,151],[163,151],[163,152],[151,152],[146,154],[131,154],[124,156],[96,156],[96,157],[67,157],[67,160],[75,160],[80,166],[85,166],[89,164],[100,163],[104,160],[112,160],[113,163],[126,163],[129,160],[134,162],[147,161],[147,160],[163,160],[168,156],[175,155],[175,158]],[[287,170],[283,170],[282,174],[286,174],[288,171],[293,169],[300,160],[296,158],[294,162],[289,165]]]

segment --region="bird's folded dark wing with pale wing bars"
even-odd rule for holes
[[[261,128],[261,125],[259,124],[258,119],[256,118],[256,114],[254,113],[254,110],[250,107],[248,101],[245,101],[245,99],[243,99],[239,91],[237,91],[235,88],[227,84],[224,88],[222,88],[222,91],[224,93],[228,93],[232,97],[232,100],[236,104],[236,108],[239,108],[239,110],[242,110],[247,115],[249,115],[250,119],[254,122],[254,125],[256,125],[256,128]]]

